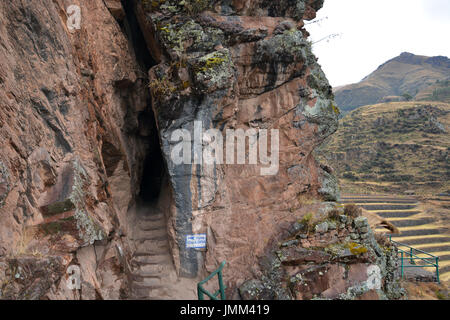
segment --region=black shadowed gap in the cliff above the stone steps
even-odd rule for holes
[[[122,0],[126,19],[119,24],[123,32],[127,35],[130,41],[130,47],[133,48],[136,60],[147,80],[148,70],[157,63],[152,58],[151,52],[145,42],[144,35],[136,17],[136,5],[136,0]],[[156,204],[167,171],[161,151],[159,134],[149,91],[147,91],[147,108],[138,115],[138,122],[139,127],[144,128],[143,131],[145,132],[145,135],[141,135],[139,138],[144,141],[146,153],[143,163],[138,166],[138,170],[140,170],[141,173],[141,179],[136,201],[138,205],[148,206]],[[140,131],[142,130],[140,129]]]

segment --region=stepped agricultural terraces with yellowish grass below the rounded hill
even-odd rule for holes
[[[450,203],[450,197],[442,198]],[[432,215],[414,197],[345,194],[342,203],[355,203],[394,224],[400,234],[392,239],[439,257],[440,278],[450,281],[450,232],[440,217]],[[447,212],[448,213],[448,212]],[[400,247],[406,250],[406,247]],[[426,257],[424,254],[417,254]],[[434,272],[433,268],[426,268]]]

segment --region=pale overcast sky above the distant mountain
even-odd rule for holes
[[[402,52],[450,57],[450,0],[325,0],[307,25],[332,86],[359,82]],[[316,19],[316,20],[317,20]]]

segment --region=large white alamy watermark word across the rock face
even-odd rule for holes
[[[224,139],[222,132],[218,129],[204,131],[202,122],[194,121],[193,134],[187,129],[177,129],[172,132],[170,159],[174,165],[262,165],[265,167],[261,167],[261,175],[269,176],[278,173],[280,160],[278,129],[270,130],[270,152],[268,152],[269,130],[267,129],[245,131],[227,129],[225,136]]]

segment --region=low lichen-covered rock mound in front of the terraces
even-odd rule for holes
[[[375,237],[366,217],[342,208],[292,226],[290,238],[261,260],[260,279],[240,288],[244,300],[401,299],[397,249]],[[378,239],[378,241],[377,241]]]

